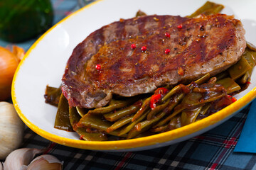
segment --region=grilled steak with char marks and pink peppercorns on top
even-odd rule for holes
[[[62,91],[70,106],[97,108],[112,94],[135,96],[217,74],[240,59],[244,34],[240,21],[222,14],[120,20],[95,30],[75,47]]]

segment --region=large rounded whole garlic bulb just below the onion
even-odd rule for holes
[[[0,102],[0,159],[21,145],[24,124],[11,103]]]

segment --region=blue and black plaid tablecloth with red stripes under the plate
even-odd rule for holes
[[[78,8],[75,0],[52,0],[52,3],[54,23]],[[17,45],[28,50],[35,40]],[[0,41],[0,45],[8,43]],[[233,152],[249,108],[247,106],[217,128],[190,140],[140,152],[96,152],[65,147],[36,135],[29,128],[25,130],[21,147],[47,148],[45,154],[63,161],[64,169],[256,169],[255,154]]]

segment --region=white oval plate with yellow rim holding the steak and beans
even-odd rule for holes
[[[234,14],[241,19],[246,39],[256,44],[256,1],[216,1],[225,5],[222,13]],[[86,142],[75,132],[53,128],[57,108],[45,103],[46,85],[60,85],[65,64],[79,42],[94,30],[119,18],[132,18],[140,9],[150,14],[186,16],[205,1],[196,0],[103,0],[80,9],[50,28],[26,52],[19,64],[12,84],[14,106],[21,119],[34,132],[53,142],[81,149],[134,151],[171,145],[187,140],[214,128],[245,107],[256,96],[256,71],[248,89],[238,94],[239,100],[203,120],[177,130],[132,140]]]

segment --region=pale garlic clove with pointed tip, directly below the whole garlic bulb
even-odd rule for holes
[[[22,165],[28,165],[36,154],[43,153],[44,149],[21,148],[16,149],[6,157],[4,170],[21,169]]]

